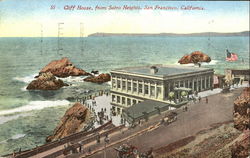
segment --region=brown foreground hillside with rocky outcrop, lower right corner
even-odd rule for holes
[[[215,124],[155,151],[158,158],[246,158],[250,153],[250,88],[234,101],[234,121]]]

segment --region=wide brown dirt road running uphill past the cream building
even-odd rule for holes
[[[157,149],[162,146],[166,146],[169,143],[173,143],[179,139],[187,136],[195,135],[197,132],[211,128],[211,125],[221,122],[228,122],[233,120],[233,101],[240,95],[243,88],[234,89],[227,94],[216,94],[208,97],[208,103],[205,98],[202,98],[200,103],[190,104],[188,111],[183,112],[179,109],[178,119],[168,126],[159,126],[155,130],[144,132],[141,135],[130,137],[132,133],[138,132],[150,126],[153,123],[159,122],[159,117],[150,120],[142,127],[137,129],[121,132],[111,137],[110,146],[106,149],[108,158],[115,158],[116,152],[113,149],[119,145],[129,142],[138,147],[140,152],[145,152],[151,147]],[[129,137],[129,139],[126,139]],[[124,141],[121,140],[124,139]],[[112,145],[113,144],[113,145]],[[89,155],[89,158],[102,158],[104,157],[103,144],[99,145],[99,152]],[[98,145],[92,145],[92,148],[98,149]],[[84,154],[81,155],[84,157]],[[79,154],[71,157],[80,157]]]

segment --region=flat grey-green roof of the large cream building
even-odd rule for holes
[[[123,73],[139,74],[139,75],[146,75],[146,76],[165,77],[165,76],[172,76],[172,75],[193,73],[193,72],[200,72],[200,71],[207,71],[207,70],[213,71],[213,69],[211,68],[204,68],[204,67],[157,65],[156,67],[158,68],[158,71],[156,73],[152,73],[150,71],[151,67],[152,66],[127,67],[127,68],[113,70],[113,72],[123,72]]]

